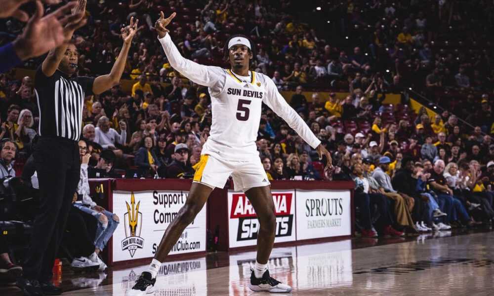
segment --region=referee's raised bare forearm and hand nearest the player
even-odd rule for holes
[[[119,57],[113,64],[112,71],[110,74],[102,75],[96,77],[93,83],[93,93],[100,94],[108,89],[110,89],[114,84],[119,83],[120,78],[122,77],[122,73],[124,73],[125,69],[125,61],[127,60],[128,51],[130,49],[130,43],[132,42],[132,38],[137,32],[137,23],[139,20],[135,20],[134,17],[130,18],[130,25],[122,28],[122,39],[124,39],[124,45],[120,50]]]

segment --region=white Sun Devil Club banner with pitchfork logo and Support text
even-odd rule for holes
[[[113,234],[113,261],[153,257],[166,227],[185,204],[188,191],[115,191],[113,212],[120,225]],[[196,216],[170,255],[206,251],[206,207]]]

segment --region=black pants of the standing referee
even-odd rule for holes
[[[79,145],[65,138],[41,137],[33,152],[40,184],[40,203],[33,224],[23,277],[45,281],[65,231],[80,179]]]

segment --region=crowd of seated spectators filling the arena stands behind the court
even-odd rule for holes
[[[117,84],[85,98],[79,146],[89,177],[91,169],[93,177],[127,177],[129,170],[145,178],[194,174],[211,125],[209,94],[170,68],[153,30],[160,10],[176,11],[170,35],[197,62],[227,67],[226,37],[250,37],[257,47],[254,70],[272,77],[279,90],[295,91],[287,101],[331,151],[334,169],[324,171],[315,150],[264,106],[257,147],[270,180],[353,180],[363,236],[490,224],[493,2],[346,0],[301,8],[318,14],[324,28],[300,22],[293,2],[88,1],[87,25],[74,38],[79,75],[108,73],[126,19],[141,20],[124,72],[135,80],[131,91]],[[2,30],[0,41],[14,38],[19,22],[9,19]],[[0,178],[20,175],[32,153],[40,120],[32,78],[0,74],[0,138],[11,141],[2,146]],[[454,92],[461,103],[435,114],[383,104],[386,94],[409,88],[438,103],[441,93]],[[315,91],[311,98],[307,90]],[[349,95],[323,98],[318,90]],[[80,202],[99,213],[99,234],[104,221],[118,224],[87,196]],[[107,238],[81,256],[98,253]]]

